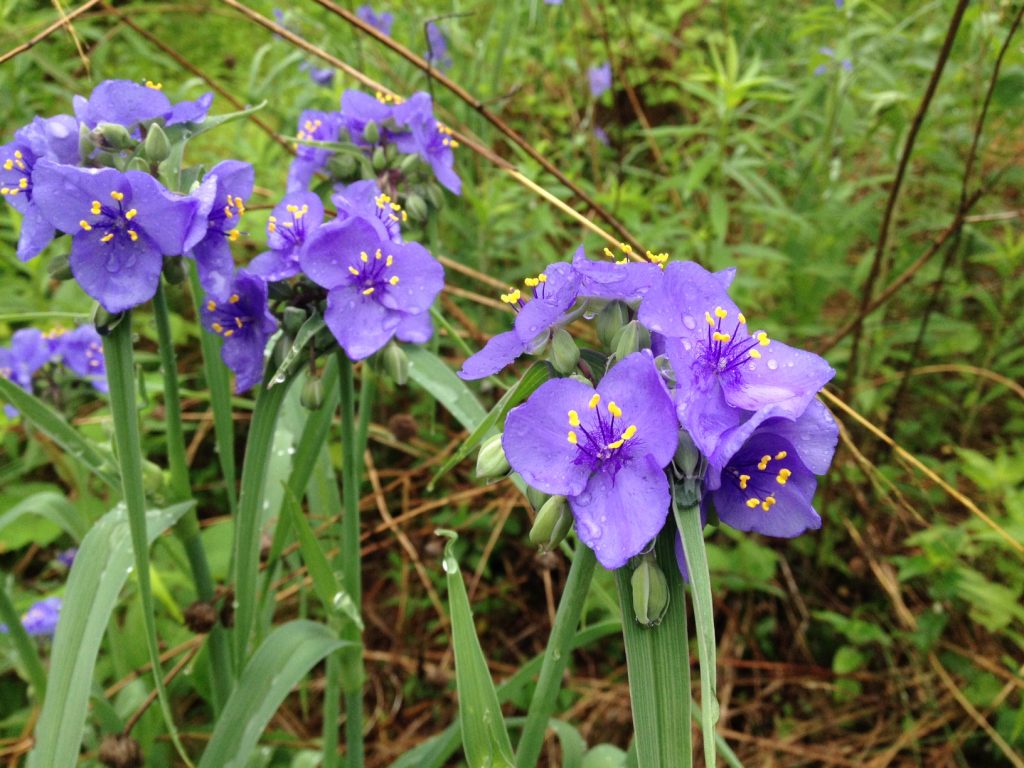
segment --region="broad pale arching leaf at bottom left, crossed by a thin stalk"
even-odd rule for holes
[[[152,544],[194,502],[146,511]],[[121,588],[134,563],[128,513],[118,505],[82,540],[68,577],[63,607],[53,639],[46,701],[36,726],[36,746],[29,768],[63,768],[78,764],[79,748],[92,689],[96,654]]]

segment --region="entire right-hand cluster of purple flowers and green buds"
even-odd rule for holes
[[[605,567],[637,558],[650,571],[657,566],[645,553],[673,498],[740,530],[795,537],[819,527],[816,477],[838,428],[815,395],[833,369],[749,327],[728,295],[734,269],[667,263],[665,254],[634,260],[622,248],[625,258],[605,249],[607,261],[581,248],[510,288],[502,300],[516,311],[513,330],[460,372],[479,379],[549,350],[561,377],[513,409],[501,437],[502,459],[535,493],[552,495],[531,540],[550,547],[555,531],[564,536],[555,510],[567,503]],[[569,333],[578,319],[596,321],[603,351],[581,354]],[[496,444],[481,451],[487,470],[501,465]],[[659,584],[649,572],[634,584],[650,598],[648,624],[664,612]]]

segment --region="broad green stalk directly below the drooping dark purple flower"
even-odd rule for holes
[[[268,373],[268,377],[269,377]],[[234,524],[234,669],[245,667],[249,639],[259,609],[259,545],[263,486],[278,414],[294,377],[267,388],[264,379],[256,395],[246,455],[242,463],[242,490]]]

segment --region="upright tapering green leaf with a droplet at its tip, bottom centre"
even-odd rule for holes
[[[441,564],[447,578],[455,678],[459,689],[459,723],[466,762],[470,768],[514,768],[512,742],[505,728],[487,659],[476,637],[466,585],[453,551],[459,537],[453,531],[437,532],[450,539],[444,545]]]

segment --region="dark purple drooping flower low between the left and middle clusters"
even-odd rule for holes
[[[263,378],[263,350],[278,329],[267,308],[266,283],[240,270],[225,294],[207,294],[203,326],[224,340],[224,365],[234,372],[234,391],[244,392]]]

